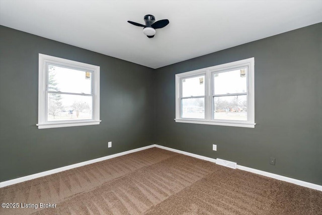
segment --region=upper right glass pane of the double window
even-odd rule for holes
[[[214,94],[232,94],[247,92],[247,67],[224,73],[213,74]]]

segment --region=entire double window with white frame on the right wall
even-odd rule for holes
[[[176,122],[255,127],[253,58],[176,75]]]

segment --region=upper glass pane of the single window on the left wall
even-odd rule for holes
[[[92,76],[90,72],[48,65],[48,91],[91,94]]]

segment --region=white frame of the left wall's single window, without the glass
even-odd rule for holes
[[[47,120],[47,102],[48,102],[48,64],[55,64],[61,67],[68,67],[79,70],[88,70],[92,75],[92,96],[93,96],[93,115],[92,119],[86,120]],[[38,126],[43,128],[71,127],[83,125],[100,124],[100,66],[88,63],[77,62],[73,60],[63,59],[50,55],[39,53],[39,79],[38,79]],[[76,94],[74,94],[76,95]],[[80,94],[82,95],[82,94]]]

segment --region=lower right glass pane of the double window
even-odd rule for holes
[[[214,119],[247,121],[247,96],[214,97]]]

